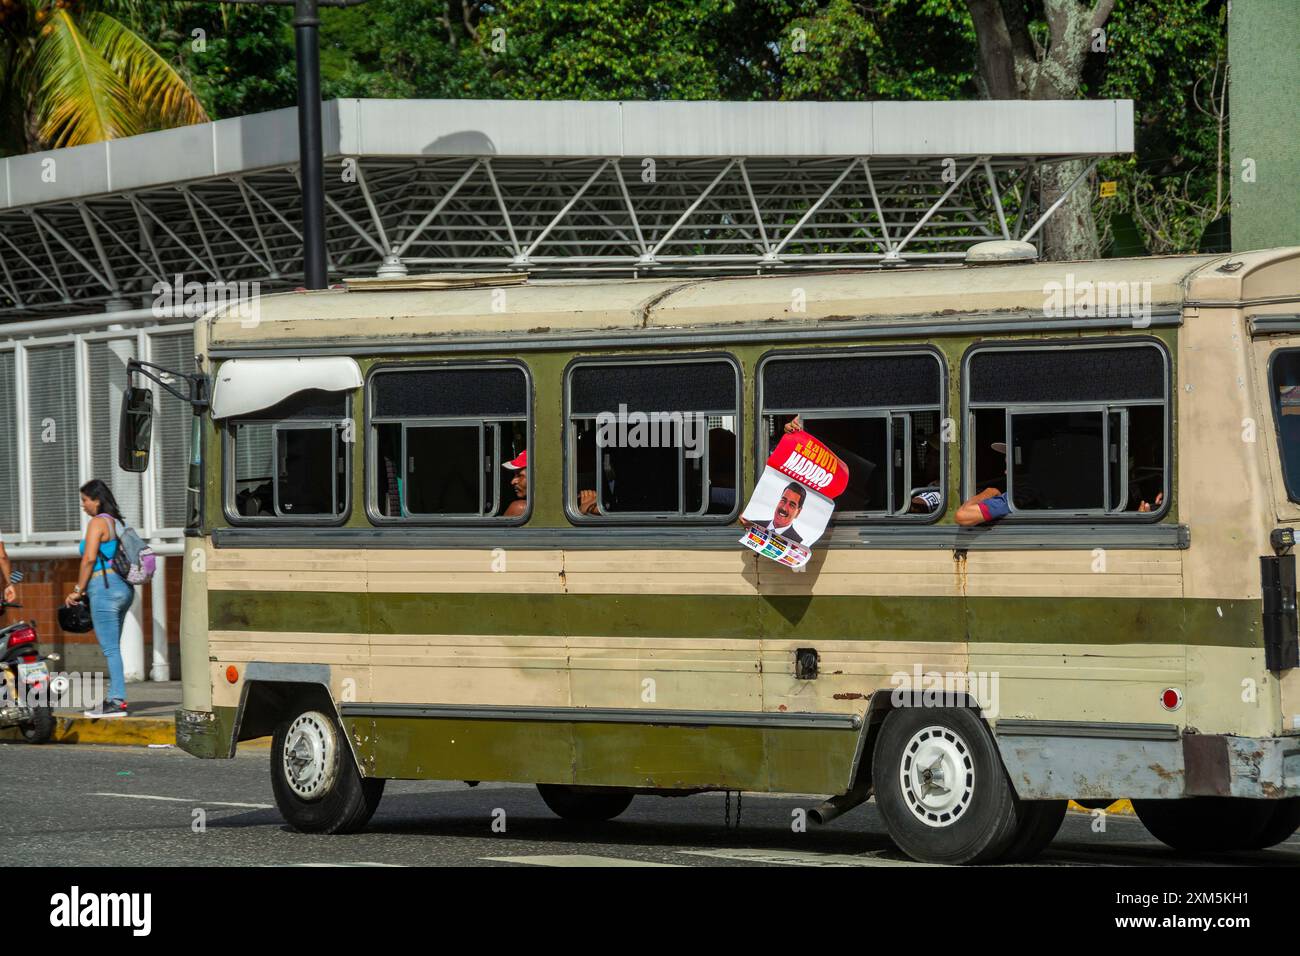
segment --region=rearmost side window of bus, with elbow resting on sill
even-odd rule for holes
[[[1153,343],[982,349],[967,363],[967,493],[1013,514],[1164,511],[1167,371]]]

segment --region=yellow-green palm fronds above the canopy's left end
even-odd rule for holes
[[[136,7],[0,0],[0,153],[207,121],[177,72],[118,18]]]

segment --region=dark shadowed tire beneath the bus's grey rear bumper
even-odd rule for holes
[[[1134,800],[1134,810],[1147,831],[1183,853],[1258,849],[1274,806],[1266,800],[1242,797]]]

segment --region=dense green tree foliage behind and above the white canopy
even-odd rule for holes
[[[1028,38],[1015,82],[1050,59],[1049,21],[1075,1],[1095,3],[996,0]],[[127,7],[212,116],[294,104],[289,8]],[[1119,182],[1093,200],[1102,247],[1127,232],[1152,252],[1195,248],[1226,202],[1225,7],[1115,0],[1105,51],[1088,51],[1078,95],[1136,107],[1135,156],[1098,170]],[[976,99],[979,64],[971,0],[369,0],[321,14],[326,98]]]

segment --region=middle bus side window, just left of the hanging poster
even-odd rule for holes
[[[740,381],[732,362],[582,362],[567,388],[571,516],[734,518]]]

